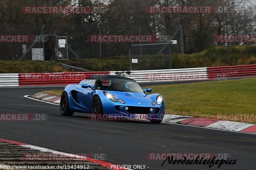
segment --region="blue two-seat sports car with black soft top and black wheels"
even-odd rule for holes
[[[60,113],[89,113],[92,117],[145,119],[160,123],[164,118],[164,100],[160,94],[147,94],[131,78],[113,75],[90,76],[79,84],[67,85],[60,99]]]

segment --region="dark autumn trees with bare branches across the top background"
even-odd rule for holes
[[[214,13],[148,13],[147,6],[214,6]],[[256,3],[252,0],[0,0],[0,34],[68,36],[69,46],[82,58],[99,57],[99,43],[88,35],[172,35],[183,19],[185,53],[200,52],[216,43],[215,35],[255,34]],[[24,6],[89,6],[89,14],[31,14]],[[99,10],[101,9],[101,10]],[[225,9],[225,10],[224,10]],[[180,43],[180,34],[175,37]],[[1,59],[18,59],[22,43],[0,43]],[[27,46],[29,47],[30,44]],[[42,44],[36,44],[41,47]],[[102,57],[127,55],[130,43],[102,43]],[[54,37],[46,42],[46,55],[53,58]],[[180,45],[175,47],[180,52]],[[156,53],[159,49],[156,49]]]

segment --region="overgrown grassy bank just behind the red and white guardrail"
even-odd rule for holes
[[[170,68],[169,55],[133,55],[138,63],[132,63],[132,70],[158,70]],[[129,70],[129,56],[109,58],[70,59],[59,62],[0,61],[0,73],[44,73],[79,71],[63,68],[60,63],[92,71]],[[256,64],[256,46],[210,46],[205,51],[190,55],[172,55],[172,68],[216,67]]]

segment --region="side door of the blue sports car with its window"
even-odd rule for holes
[[[94,85],[96,80],[88,79],[83,82],[83,84],[88,85]],[[81,102],[81,104],[86,107],[86,111],[91,112],[91,106],[92,106],[92,95],[93,91],[90,87],[88,88],[82,88],[82,84],[78,85],[77,88],[77,95]]]

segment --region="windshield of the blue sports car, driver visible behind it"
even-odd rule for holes
[[[100,78],[96,83],[96,89],[143,93],[143,90],[138,83],[133,80],[123,78]]]

